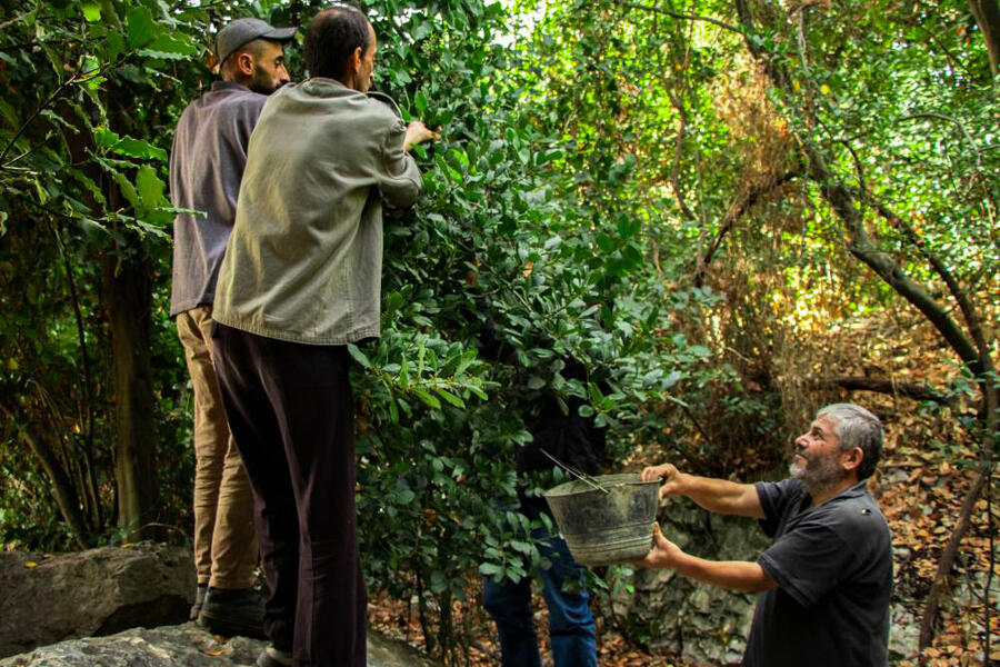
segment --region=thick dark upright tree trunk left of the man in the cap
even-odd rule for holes
[[[114,387],[118,526],[128,530],[130,540],[152,538],[158,489],[148,260],[137,242],[104,253],[101,272]]]

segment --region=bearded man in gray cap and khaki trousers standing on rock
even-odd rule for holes
[[[170,156],[173,223],[170,315],[194,394],[194,568],[191,618],[218,635],[262,636],[253,496],[219,397],[212,349],[216,280],[236,219],[247,147],[268,96],[288,83],[294,28],[238,19],[219,31],[221,81],[181,115]]]

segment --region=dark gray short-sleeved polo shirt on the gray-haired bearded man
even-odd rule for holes
[[[867,480],[816,508],[798,479],[758,484],[758,563],[778,583],[753,613],[744,667],[886,667],[892,544]]]

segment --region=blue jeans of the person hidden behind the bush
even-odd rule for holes
[[[540,512],[549,514],[541,498],[527,499],[520,509],[532,520],[537,520]],[[549,640],[556,667],[597,667],[597,635],[589,596],[583,588],[583,568],[573,560],[562,538],[549,536],[543,528],[534,529],[532,537],[549,538],[547,545],[539,545],[539,551],[552,561],[551,568],[541,571],[541,579],[542,595],[549,608]],[[564,584],[570,585],[571,593],[563,590]],[[517,584],[509,579],[496,584],[487,578],[482,604],[497,623],[501,666],[541,667],[531,614],[531,578],[526,577]]]

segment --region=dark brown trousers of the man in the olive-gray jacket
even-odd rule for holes
[[[264,633],[297,667],[364,667],[354,414],[343,346],[217,325],[222,402],[254,498]]]

